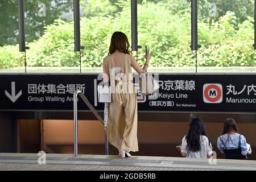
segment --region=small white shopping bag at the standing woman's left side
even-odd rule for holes
[[[112,86],[98,85],[98,102],[112,102]]]

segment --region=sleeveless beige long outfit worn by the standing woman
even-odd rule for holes
[[[125,55],[121,71],[117,75],[114,73],[109,57],[107,60],[112,92],[114,90],[112,102],[109,104],[108,139],[118,149],[136,152],[138,151],[137,94],[134,92],[130,55]]]

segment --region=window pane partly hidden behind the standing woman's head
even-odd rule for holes
[[[102,61],[108,55],[110,39],[122,31],[131,43],[130,1],[80,0],[82,72],[102,72]]]

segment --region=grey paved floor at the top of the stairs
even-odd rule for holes
[[[170,158],[156,156],[46,154],[46,164],[38,164],[37,154],[0,153],[0,170],[84,170],[84,171],[176,171],[176,170],[253,170],[255,160]],[[42,160],[40,160],[42,162]]]

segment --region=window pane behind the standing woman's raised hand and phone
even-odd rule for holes
[[[138,1],[138,62],[151,50],[148,71],[195,72],[191,51],[191,3],[187,0]]]

